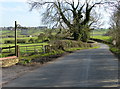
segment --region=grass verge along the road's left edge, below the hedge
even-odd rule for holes
[[[83,50],[83,49],[96,49],[99,48],[99,46],[96,47],[89,47],[89,48],[69,48],[66,49],[65,51],[63,50],[58,50],[58,51],[52,51],[50,53],[45,53],[45,54],[36,54],[36,55],[31,55],[29,57],[20,57],[20,62],[19,64],[22,65],[29,65],[33,63],[41,63],[44,64],[48,61],[52,61],[53,59],[56,59],[58,57],[61,57],[67,53],[72,53],[76,50]]]

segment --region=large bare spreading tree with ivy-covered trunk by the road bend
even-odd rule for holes
[[[90,22],[93,8],[104,4],[104,0],[40,0],[30,1],[31,10],[46,8],[42,22],[54,27],[69,28],[75,40],[87,41],[89,27],[97,20]]]

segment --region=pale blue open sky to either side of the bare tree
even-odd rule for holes
[[[0,27],[14,26],[17,21],[21,26],[42,26],[41,15],[37,10],[29,11],[28,0],[0,0]],[[108,14],[104,12],[103,28],[109,27]]]

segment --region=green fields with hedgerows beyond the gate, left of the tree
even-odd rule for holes
[[[29,28],[28,30],[19,30],[17,29],[17,45],[19,45],[20,55],[21,56],[29,56],[34,53],[40,54],[43,53],[45,50],[44,46],[48,45],[47,42],[43,42],[44,40],[42,38],[38,39],[38,35],[41,33],[49,34],[52,32],[52,34],[55,34],[58,31],[56,30],[50,30],[50,29],[40,29],[40,28]],[[12,46],[15,46],[15,31],[2,29],[0,30],[2,33],[0,35],[0,38],[2,40],[1,48],[2,48],[2,54],[0,54],[1,57],[7,57],[15,55],[15,47],[10,48]],[[6,49],[6,47],[9,47]]]

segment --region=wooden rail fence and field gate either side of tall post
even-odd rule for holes
[[[32,54],[32,53],[46,53],[49,45],[17,45],[17,55]],[[15,56],[15,46],[0,48],[3,57]]]

